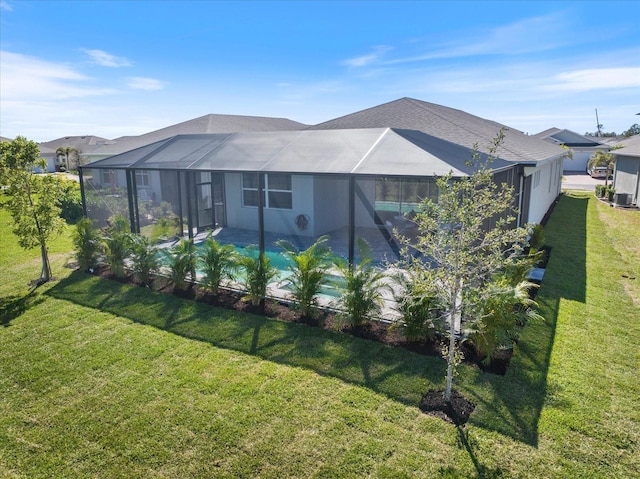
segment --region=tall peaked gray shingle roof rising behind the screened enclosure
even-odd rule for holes
[[[436,138],[486,151],[502,128],[505,140],[497,155],[509,161],[537,163],[564,155],[551,143],[454,108],[401,98],[310,127],[313,130],[347,128],[397,128],[418,130]]]

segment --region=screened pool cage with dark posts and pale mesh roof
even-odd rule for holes
[[[360,237],[374,261],[395,262],[396,234],[415,235],[421,199],[437,198],[433,173],[453,169],[405,136],[389,129],[180,135],[83,166],[85,215],[99,227],[124,215],[133,232],[161,243],[211,234],[261,251],[281,251],[274,245],[281,239],[303,250],[328,235],[351,264]],[[456,148],[464,164],[470,153]]]

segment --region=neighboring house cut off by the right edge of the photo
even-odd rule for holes
[[[640,196],[640,135],[622,140],[622,148],[613,150],[615,169],[613,173],[613,189],[615,203],[618,205],[638,206]]]

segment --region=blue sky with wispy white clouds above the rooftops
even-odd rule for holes
[[[639,1],[0,0],[0,135],[207,113],[315,124],[401,97],[534,134],[640,123]]]

